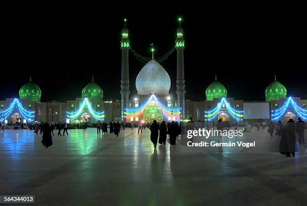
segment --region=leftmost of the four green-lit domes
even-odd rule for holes
[[[33,82],[28,82],[19,90],[19,98],[29,101],[40,102],[42,92],[41,89]]]

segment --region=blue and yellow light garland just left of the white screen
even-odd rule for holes
[[[229,111],[229,114],[234,119],[236,119],[237,121],[242,121],[243,111],[232,108],[229,102],[226,101],[225,97],[221,99],[221,101],[218,103],[218,105],[214,109],[210,111],[205,111],[205,117],[206,117],[205,120],[211,121],[212,119],[216,118],[219,115],[219,112],[221,111],[223,103],[225,104],[226,109]]]

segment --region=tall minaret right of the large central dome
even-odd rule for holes
[[[185,39],[183,37],[183,29],[181,27],[181,18],[179,18],[179,27],[177,29],[176,49],[177,49],[177,81],[176,81],[177,105],[179,108],[181,108],[181,115],[182,115],[181,119],[184,119],[186,116],[185,63],[184,63]]]

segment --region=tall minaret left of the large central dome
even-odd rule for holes
[[[124,111],[125,108],[129,106],[129,49],[130,41],[128,38],[128,29],[126,28],[126,19],[125,27],[122,29],[122,37],[120,41],[121,49],[121,120],[124,120]]]

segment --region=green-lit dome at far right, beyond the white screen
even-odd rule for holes
[[[286,88],[276,80],[266,87],[264,93],[265,101],[279,100],[287,96]]]

